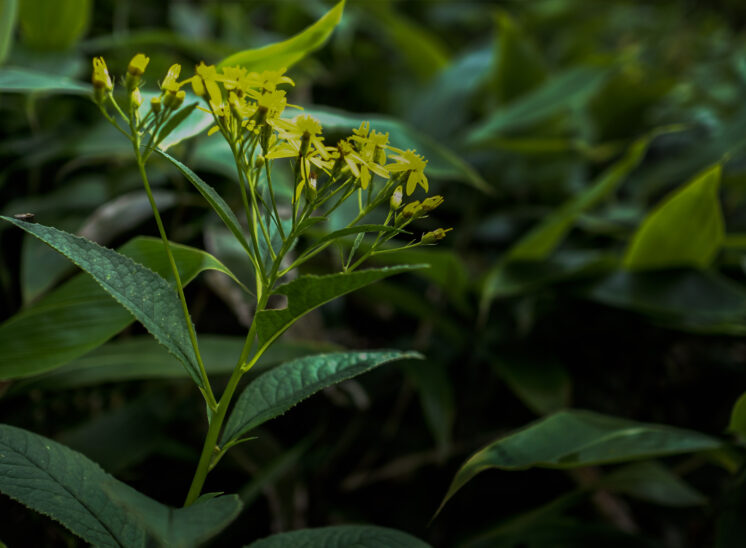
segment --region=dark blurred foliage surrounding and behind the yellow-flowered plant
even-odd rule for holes
[[[149,240],[130,242],[155,227],[129,148],[81,85],[90,57],[122,73],[146,51],[160,74],[284,39],[330,7],[0,2],[0,213],[147,253]],[[245,503],[212,543],[364,522],[434,546],[742,545],[744,22],[725,0],[350,1],[292,68],[290,102],[327,132],[370,119],[417,147],[447,198],[418,228],[455,230],[438,248],[385,255],[433,268],[313,313],[262,366],[342,347],[427,360],[257,429],[208,481]],[[215,139],[170,153],[234,192]],[[159,159],[151,182],[173,240],[248,274],[178,171]],[[178,506],[204,435],[190,383],[126,314],[81,299],[77,315],[55,316],[90,282],[10,226],[0,319],[22,312],[0,325],[0,378],[13,378],[2,422]],[[207,270],[188,297],[213,334],[210,373],[226,378],[251,311],[204,259],[184,260],[190,277]],[[38,342],[50,333],[54,350]],[[9,546],[76,542],[6,497],[0,513]]]

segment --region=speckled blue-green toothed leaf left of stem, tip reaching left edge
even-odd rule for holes
[[[85,238],[36,223],[0,218],[36,236],[90,274],[184,364],[201,386],[181,304],[176,291],[164,278],[129,257]]]

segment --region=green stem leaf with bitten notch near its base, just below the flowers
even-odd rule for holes
[[[401,265],[355,272],[340,272],[326,276],[309,274],[281,285],[274,290],[274,293],[287,296],[287,308],[262,310],[254,319],[257,322],[256,334],[259,347],[263,349],[272,344],[298,318],[322,304],[394,274],[425,267],[426,265]]]

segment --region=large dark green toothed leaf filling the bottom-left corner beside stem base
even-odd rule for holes
[[[0,425],[0,492],[104,547],[193,546],[228,525],[241,503],[220,497],[164,506],[50,439]]]

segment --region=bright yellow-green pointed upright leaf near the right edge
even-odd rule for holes
[[[623,265],[629,270],[692,266],[706,268],[725,239],[716,164],[670,194],[643,221]]]

